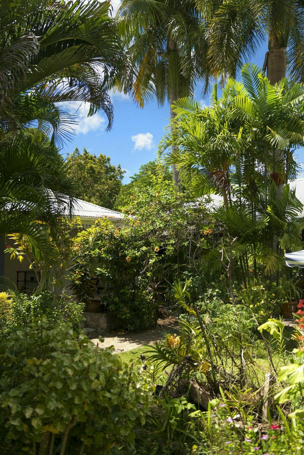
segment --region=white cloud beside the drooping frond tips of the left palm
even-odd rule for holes
[[[64,107],[69,114],[77,116],[77,124],[74,126],[76,133],[87,134],[89,131],[104,129],[105,119],[98,112],[88,117],[89,106],[85,103],[71,101]]]

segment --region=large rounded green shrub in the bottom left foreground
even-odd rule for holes
[[[50,329],[46,316],[3,339],[0,358],[7,454],[107,453],[132,444],[137,417],[144,423],[153,388],[139,366],[122,365],[111,348],[95,349],[83,335],[73,338],[69,327]]]

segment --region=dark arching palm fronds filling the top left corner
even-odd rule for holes
[[[110,2],[6,0],[0,6],[2,131],[38,121],[54,136],[67,129],[58,103],[84,101],[113,121],[107,90],[124,67]],[[56,103],[56,104],[55,104]]]

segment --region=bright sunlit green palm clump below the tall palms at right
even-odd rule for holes
[[[183,181],[194,181],[199,194],[222,195],[223,226],[251,243],[250,253],[273,273],[283,264],[283,250],[301,244],[302,205],[286,183],[297,174],[294,149],[304,146],[304,86],[286,79],[272,86],[252,64],[241,76],[242,83],[227,82],[220,99],[215,85],[205,110],[190,99],[175,102],[177,117],[160,153],[177,145],[166,163],[177,163]]]

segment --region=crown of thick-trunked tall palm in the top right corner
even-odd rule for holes
[[[286,75],[286,50],[290,77],[304,81],[303,0],[198,0],[197,6],[210,21],[209,57],[218,76],[236,77],[267,36],[263,70],[270,83]]]

